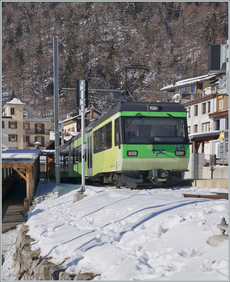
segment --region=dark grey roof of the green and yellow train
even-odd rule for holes
[[[117,103],[116,107],[108,111],[106,114],[102,114],[97,117],[95,120],[90,122],[88,127],[85,129],[85,133],[91,131],[94,127],[101,124],[103,121],[107,120],[114,114],[123,111],[123,112],[148,112],[148,105],[159,105],[160,112],[185,112],[185,107],[181,103],[166,103],[166,102],[130,102],[130,101],[121,101]],[[71,142],[81,137],[81,134],[73,136],[68,142],[66,142],[60,149],[64,149]]]

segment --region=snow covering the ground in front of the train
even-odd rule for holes
[[[228,240],[218,247],[207,243],[209,226],[220,235],[216,224],[222,217],[228,222],[228,201],[183,196],[228,190],[87,186],[87,197],[73,203],[80,185],[61,186],[54,194],[55,183],[38,186],[27,224],[36,240],[32,249],[66,272],[101,274],[94,280],[229,279]]]

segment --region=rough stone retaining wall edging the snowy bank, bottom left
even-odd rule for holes
[[[16,280],[92,280],[93,274],[71,274],[65,272],[61,265],[55,265],[48,259],[40,256],[40,250],[31,250],[30,243],[34,240],[27,235],[29,226],[25,222],[22,223],[21,229],[18,231],[16,240],[15,253],[12,258],[14,260],[12,268],[14,268],[13,276]]]

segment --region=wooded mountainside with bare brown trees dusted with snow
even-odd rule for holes
[[[149,65],[138,90],[207,73],[207,49],[228,38],[227,2],[3,2],[2,103],[14,92],[53,119],[53,36],[59,86],[88,79],[92,89],[124,89],[124,64]],[[132,89],[140,72],[128,72]],[[124,97],[93,93],[104,112]],[[137,100],[153,95],[135,94]],[[160,97],[164,99],[165,97]],[[59,99],[60,119],[75,111],[74,93]]]

